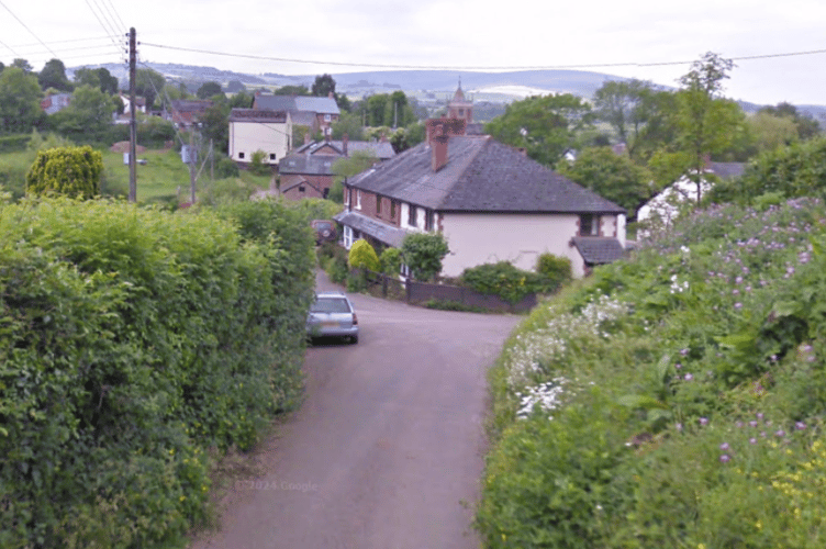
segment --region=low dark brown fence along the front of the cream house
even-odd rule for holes
[[[446,284],[429,284],[408,279],[399,280],[380,272],[365,270],[368,291],[377,296],[404,301],[411,305],[428,302],[457,303],[468,309],[483,309],[510,313],[524,313],[536,306],[535,293],[525,295],[516,303],[505,301],[499,295],[479,293],[469,288]]]

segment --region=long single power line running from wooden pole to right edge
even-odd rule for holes
[[[161,49],[175,49],[179,52],[191,52],[198,54],[208,55],[221,55],[225,57],[237,57],[245,59],[260,59],[281,63],[298,63],[305,65],[333,65],[343,67],[368,67],[368,68],[395,68],[395,69],[425,69],[425,70],[562,70],[562,69],[584,69],[584,68],[612,68],[612,67],[660,67],[668,65],[690,65],[696,59],[679,60],[679,61],[657,61],[657,63],[593,63],[593,64],[579,64],[579,65],[527,65],[527,66],[458,66],[458,65],[404,65],[404,64],[378,64],[378,63],[347,63],[347,61],[330,61],[330,60],[315,60],[315,59],[295,59],[288,57],[269,57],[261,55],[249,54],[233,54],[227,52],[215,52],[210,49],[198,49],[189,47],[169,46],[164,44],[153,44],[148,42],[141,43],[144,46],[157,47]],[[789,52],[779,54],[766,54],[766,55],[749,55],[733,57],[732,60],[754,60],[754,59],[768,59],[772,57],[793,57],[802,55],[816,55],[826,54],[826,49],[811,49],[805,52]]]

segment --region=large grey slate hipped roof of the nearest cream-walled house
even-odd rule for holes
[[[613,202],[490,136],[448,141],[448,163],[431,165],[422,143],[350,179],[354,188],[442,212],[625,213]]]

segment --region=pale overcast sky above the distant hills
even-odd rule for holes
[[[826,104],[823,0],[0,0],[0,61],[125,63],[130,27],[139,61],[247,74],[570,68],[677,86],[714,52],[735,60],[730,99]]]

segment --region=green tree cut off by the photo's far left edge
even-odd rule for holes
[[[29,133],[45,119],[37,77],[11,66],[0,74],[0,133]]]

